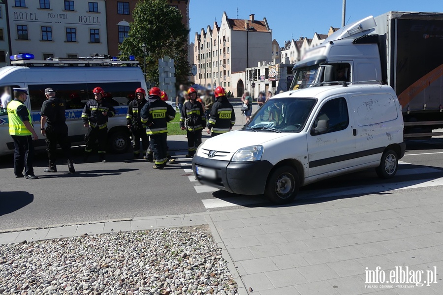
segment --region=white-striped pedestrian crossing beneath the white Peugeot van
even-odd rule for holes
[[[219,189],[212,186],[200,184],[194,177],[193,171],[191,169],[192,165],[190,162],[182,162],[182,168],[185,173],[192,173],[189,176],[190,182],[194,185],[196,193],[212,193]],[[432,175],[436,177],[432,177]],[[440,175],[439,175],[440,174]],[[413,179],[401,181],[398,177],[411,176],[411,175],[426,175],[428,178],[424,179]],[[361,194],[373,194],[380,192],[390,192],[390,191],[401,191],[405,189],[422,188],[422,187],[432,187],[432,186],[443,186],[443,169],[437,169],[432,167],[416,167],[414,164],[399,161],[399,168],[394,177],[393,182],[382,182],[379,184],[368,184],[359,186],[344,186],[335,187],[332,189],[306,189],[301,188],[298,199],[316,199],[316,198],[330,198],[339,196],[349,196],[349,195],[361,195]],[[242,196],[236,195],[235,197],[228,198],[212,198],[204,199],[202,203],[206,209],[222,208],[222,207],[232,207],[232,206],[248,206],[267,203],[265,197],[263,196]]]

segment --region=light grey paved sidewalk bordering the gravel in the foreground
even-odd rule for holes
[[[2,233],[0,243],[209,224],[241,295],[435,295],[443,294],[441,196],[429,188],[286,207],[134,217]],[[378,266],[386,279],[396,267],[408,267],[416,283],[426,281],[427,271],[434,277],[436,269],[437,283],[366,283],[365,271]]]

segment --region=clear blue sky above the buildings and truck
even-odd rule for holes
[[[214,21],[221,24],[223,11],[228,18],[255,20],[265,17],[272,38],[283,47],[285,41],[300,36],[312,38],[314,33],[327,34],[329,27],[342,26],[343,0],[189,0],[190,42],[195,33]],[[238,17],[237,17],[238,10]],[[346,24],[387,11],[443,12],[443,0],[346,0]]]

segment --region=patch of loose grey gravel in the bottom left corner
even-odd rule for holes
[[[0,245],[0,294],[236,295],[207,226]]]

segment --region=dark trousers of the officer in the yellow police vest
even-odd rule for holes
[[[11,135],[14,141],[14,174],[21,176],[23,168],[25,168],[25,175],[34,175],[34,168],[32,161],[34,158],[34,145],[32,144],[31,135]]]

